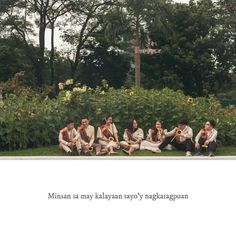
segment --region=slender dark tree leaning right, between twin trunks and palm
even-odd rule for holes
[[[99,29],[103,17],[116,0],[75,0],[72,12],[64,21],[64,40],[73,49],[68,52],[68,60],[71,65],[71,77],[74,78],[81,61],[84,45]]]

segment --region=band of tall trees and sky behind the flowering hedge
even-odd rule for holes
[[[55,30],[63,48],[55,46]],[[24,83],[35,88],[52,85],[56,91],[68,78],[91,87],[103,80],[115,88],[129,87],[134,85],[137,45],[145,52],[142,87],[181,89],[192,96],[227,90],[236,77],[235,1],[0,3],[0,83],[24,71]]]

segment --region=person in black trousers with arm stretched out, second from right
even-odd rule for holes
[[[160,144],[159,151],[161,152],[168,144],[174,146],[177,150],[186,152],[186,156],[192,156],[193,145],[193,130],[188,125],[186,119],[182,119],[178,122],[170,132],[165,134],[165,140]]]

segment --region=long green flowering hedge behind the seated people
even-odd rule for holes
[[[40,95],[12,94],[0,107],[1,149],[22,149],[57,143],[58,131],[65,120],[78,124],[84,115],[98,127],[103,118],[111,114],[122,137],[127,123],[135,118],[145,133],[156,119],[162,119],[167,129],[173,128],[181,118],[187,118],[194,133],[206,119],[217,122],[218,140],[223,145],[236,145],[236,113],[234,107],[222,108],[214,97],[188,97],[181,91],[170,89],[145,90],[142,88],[113,89],[106,84],[95,90],[70,87],[62,90],[56,99],[42,99]]]

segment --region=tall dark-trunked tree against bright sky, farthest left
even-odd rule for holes
[[[43,85],[46,28],[55,21],[55,17],[57,19],[61,15],[61,6],[64,5],[65,1],[58,0],[18,0],[5,11],[5,32],[11,32],[24,42],[25,51],[34,66],[38,86]],[[38,29],[37,51],[32,51],[31,47],[35,43],[34,29]]]

